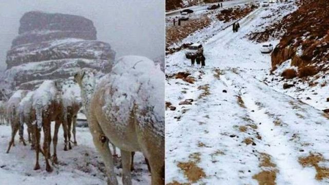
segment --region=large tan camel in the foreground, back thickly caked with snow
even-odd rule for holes
[[[107,171],[107,183],[118,184],[111,141],[121,150],[122,182],[132,184],[131,153],[140,151],[149,160],[152,184],[165,184],[165,75],[153,61],[122,57],[96,86],[93,72],[83,69],[75,81],[89,130]]]

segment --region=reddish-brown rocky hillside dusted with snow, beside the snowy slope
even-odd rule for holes
[[[291,59],[302,69],[314,65],[316,72],[327,70],[329,58],[329,1],[302,0],[297,11],[284,17],[285,33],[272,53],[272,69]]]

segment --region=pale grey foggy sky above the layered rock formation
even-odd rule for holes
[[[94,22],[97,40],[121,55],[154,59],[165,53],[165,0],[0,0],[0,68],[28,11],[81,15]]]

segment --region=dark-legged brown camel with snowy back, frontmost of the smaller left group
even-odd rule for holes
[[[39,165],[39,151],[40,151],[40,131],[43,128],[44,143],[43,151],[46,161],[46,170],[52,171],[48,158],[50,158],[50,123],[55,121],[55,131],[53,136],[53,162],[57,163],[57,140],[58,140],[58,128],[62,122],[63,103],[61,98],[61,88],[57,82],[51,80],[45,80],[38,89],[35,90],[32,99],[32,106],[35,109],[36,123],[33,125],[33,131],[35,135],[35,154],[36,162],[34,170],[40,169]],[[66,123],[63,123],[64,135],[67,134]],[[64,137],[65,138],[65,137]]]

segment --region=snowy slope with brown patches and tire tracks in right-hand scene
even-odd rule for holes
[[[258,184],[262,178],[267,184],[273,184],[271,178],[276,184],[329,183],[327,177],[316,179],[319,169],[329,167],[328,118],[264,83],[272,78],[270,55],[246,38],[269,24],[276,15],[261,17],[279,6],[287,5],[261,7],[240,21],[239,32],[229,27],[205,41],[204,69],[192,67],[184,50],[167,56],[166,101],[176,110],[166,110],[166,183]],[[196,81],[170,78],[183,71]],[[186,99],[194,101],[179,105]],[[321,168],[302,166],[300,159],[311,153],[322,155]],[[191,168],[181,165],[187,163]]]

